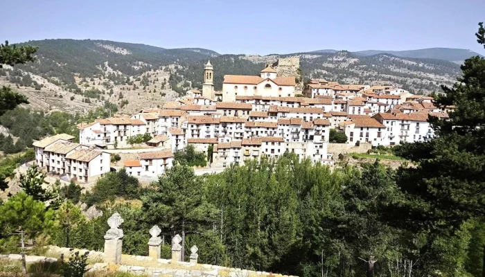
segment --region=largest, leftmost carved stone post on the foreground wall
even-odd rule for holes
[[[123,245],[123,230],[118,227],[124,222],[118,213],[108,219],[109,230],[105,235],[105,262],[118,264],[121,262],[121,247]]]

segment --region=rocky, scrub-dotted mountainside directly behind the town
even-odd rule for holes
[[[93,106],[115,103],[131,113],[173,100],[188,89],[202,88],[204,64],[214,66],[215,89],[226,74],[258,75],[280,57],[299,57],[305,78],[325,78],[342,84],[395,84],[415,93],[439,91],[460,74],[459,65],[446,60],[362,55],[321,50],[272,55],[220,55],[204,48],[161,48],[106,40],[44,39],[37,61],[0,69],[0,85],[13,84],[36,109],[86,112]]]

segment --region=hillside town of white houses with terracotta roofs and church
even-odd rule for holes
[[[130,137],[149,134],[147,152],[123,161],[130,175],[163,174],[173,166],[174,153],[187,145],[208,153],[211,168],[278,158],[285,152],[332,166],[330,129],[345,134],[349,147],[412,143],[434,135],[429,116],[446,119],[454,109],[435,107],[432,97],[398,87],[324,79],[309,80],[303,94],[297,94],[295,78],[279,76],[272,66],[258,76],[224,75],[222,91],[215,91],[214,70],[210,61],[205,64],[202,91],[192,89],[132,116],[80,123],[80,143],[66,134],[36,142],[37,164],[69,179],[92,181],[110,170],[105,151],[130,149]]]

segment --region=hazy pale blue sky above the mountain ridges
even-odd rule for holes
[[[219,53],[468,48],[485,0],[2,1],[0,39],[107,39]]]

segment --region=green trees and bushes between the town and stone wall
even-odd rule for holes
[[[0,249],[12,253],[17,247],[8,226],[22,226],[28,238],[61,247],[103,249],[107,218],[118,212],[125,220],[123,253],[133,255],[148,254],[148,230],[157,224],[166,242],[164,258],[179,233],[186,258],[196,244],[203,263],[299,276],[320,276],[322,270],[327,276],[363,276],[367,262],[361,259],[377,260],[376,276],[479,272],[483,222],[470,218],[456,233],[439,235],[403,225],[423,219],[403,213],[416,199],[396,184],[398,176],[378,162],[331,172],[293,154],[231,166],[218,175],[196,176],[191,167],[177,165],[149,188],[123,171],[112,172],[81,196],[104,211],[93,220],[63,197],[55,210],[25,193],[11,197],[0,207]]]

